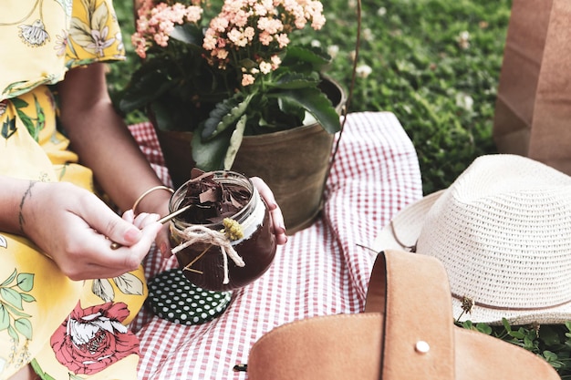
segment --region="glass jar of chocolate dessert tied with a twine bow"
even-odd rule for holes
[[[228,291],[254,282],[271,266],[276,243],[265,201],[234,171],[201,173],[172,195],[172,252],[185,277],[203,289]]]

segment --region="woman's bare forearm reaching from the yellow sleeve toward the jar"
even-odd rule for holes
[[[161,185],[111,104],[103,64],[70,70],[58,92],[60,119],[71,148],[121,210],[130,210],[140,194]],[[170,197],[168,191],[153,191],[138,210],[165,215]]]

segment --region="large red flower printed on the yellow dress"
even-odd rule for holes
[[[139,339],[122,321],[125,303],[76,308],[52,335],[57,360],[74,374],[94,375],[130,354],[139,354]]]

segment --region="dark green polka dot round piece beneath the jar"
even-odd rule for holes
[[[231,299],[232,292],[202,289],[175,268],[151,278],[147,302],[155,315],[174,324],[203,324],[222,314]]]

